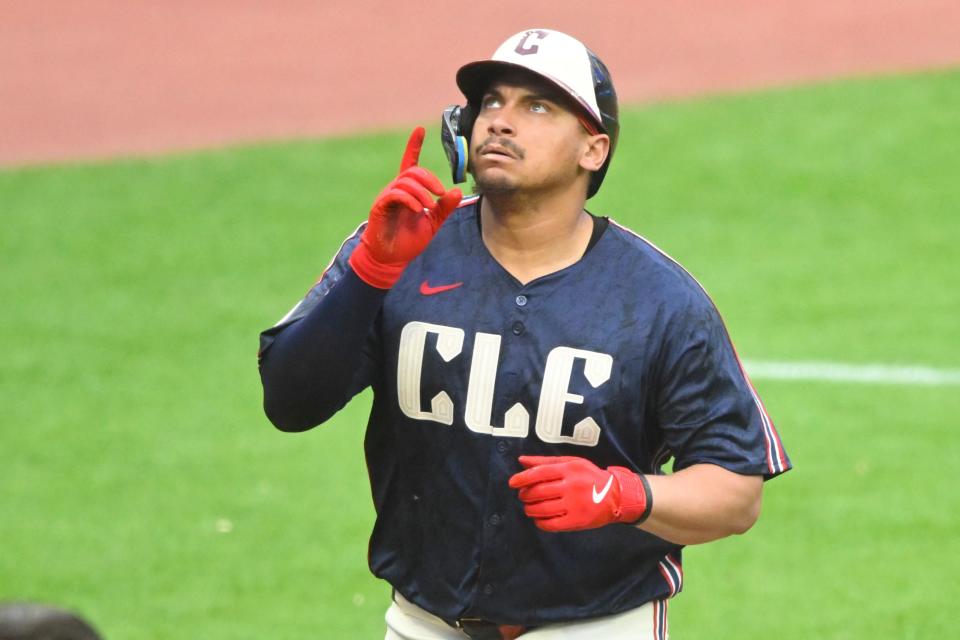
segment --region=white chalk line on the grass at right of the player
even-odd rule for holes
[[[859,384],[960,385],[960,369],[919,365],[843,364],[840,362],[770,362],[745,360],[747,374],[757,380],[812,380]]]

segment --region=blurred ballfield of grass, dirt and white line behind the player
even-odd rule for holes
[[[106,638],[381,638],[364,394],[257,334],[434,126],[557,28],[610,67],[591,211],[705,285],[796,469],[685,554],[677,638],[942,638],[960,588],[960,4],[0,0],[0,601]]]

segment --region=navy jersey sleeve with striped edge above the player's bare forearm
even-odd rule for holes
[[[674,470],[709,463],[772,478],[792,464],[719,313],[697,299],[670,323],[657,398]]]

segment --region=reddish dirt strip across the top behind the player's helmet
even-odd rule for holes
[[[527,27],[584,40],[626,102],[960,64],[957,0],[0,0],[0,12],[0,165],[432,122],[460,99],[456,68]]]

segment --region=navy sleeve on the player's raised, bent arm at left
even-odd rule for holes
[[[344,241],[303,300],[260,334],[264,410],[280,429],[302,431],[326,421],[379,371],[377,328],[386,292],[360,280],[349,265],[364,227]]]

